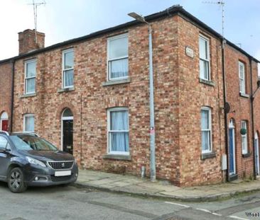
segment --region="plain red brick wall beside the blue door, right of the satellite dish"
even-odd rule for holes
[[[251,129],[251,104],[249,97],[242,97],[239,95],[239,61],[245,64],[246,75],[246,93],[251,94],[251,76],[250,76],[250,61],[247,56],[241,52],[235,50],[229,45],[225,46],[225,73],[226,73],[226,87],[227,87],[227,102],[230,104],[230,112],[227,114],[227,121],[233,119],[235,122],[235,151],[236,151],[236,169],[239,178],[250,177],[254,173],[254,158],[253,158],[253,135]],[[257,67],[253,63],[253,88],[256,89],[257,81]],[[256,98],[255,101],[255,120],[254,124],[259,129],[260,115],[259,107],[260,103]],[[248,151],[251,154],[249,157],[244,158],[242,156],[242,138],[240,134],[241,121],[247,120],[247,143]]]

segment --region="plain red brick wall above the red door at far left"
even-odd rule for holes
[[[11,117],[11,63],[0,64],[0,116],[3,112],[7,112],[10,119]]]

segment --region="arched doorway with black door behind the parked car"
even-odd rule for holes
[[[69,108],[65,108],[61,117],[61,145],[62,150],[73,154],[73,113]]]

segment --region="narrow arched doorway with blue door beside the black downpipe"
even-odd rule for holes
[[[236,174],[236,151],[234,136],[234,120],[229,121],[229,175]]]

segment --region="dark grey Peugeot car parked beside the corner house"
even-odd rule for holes
[[[77,180],[75,158],[35,133],[0,131],[0,181],[11,192],[28,186],[67,185]]]

